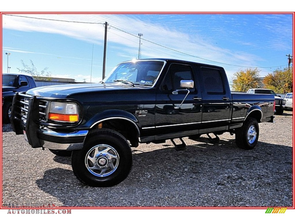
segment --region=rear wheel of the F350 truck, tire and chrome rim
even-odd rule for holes
[[[248,118],[242,128],[236,131],[236,144],[238,147],[245,150],[252,150],[259,137],[259,125],[255,118]]]

